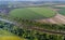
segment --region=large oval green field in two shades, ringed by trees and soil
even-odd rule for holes
[[[55,12],[49,8],[24,8],[11,11],[10,15],[24,19],[40,19],[46,17],[52,17],[55,15]]]

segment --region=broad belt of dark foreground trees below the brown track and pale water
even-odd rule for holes
[[[38,30],[28,30],[4,22],[0,22],[0,28],[28,40],[65,40],[65,36],[63,35],[50,35]]]

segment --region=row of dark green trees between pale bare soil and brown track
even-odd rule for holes
[[[28,27],[40,27],[40,28],[46,28],[46,29],[54,29],[54,30],[63,30],[65,31],[65,24],[47,24],[47,23],[38,23],[36,21],[29,21],[29,19],[23,19],[23,18],[14,18],[14,21],[20,22],[24,26]]]

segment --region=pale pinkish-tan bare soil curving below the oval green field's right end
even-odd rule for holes
[[[37,22],[51,23],[51,24],[65,24],[65,16],[57,13],[54,17],[46,18],[46,19],[39,19]]]

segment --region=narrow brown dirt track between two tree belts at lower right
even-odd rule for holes
[[[60,31],[60,30],[48,30],[48,29],[42,29],[42,28],[31,28],[34,30],[39,30],[39,31],[42,31],[42,32],[49,32],[49,34],[52,34],[52,35],[65,35],[65,31]]]

